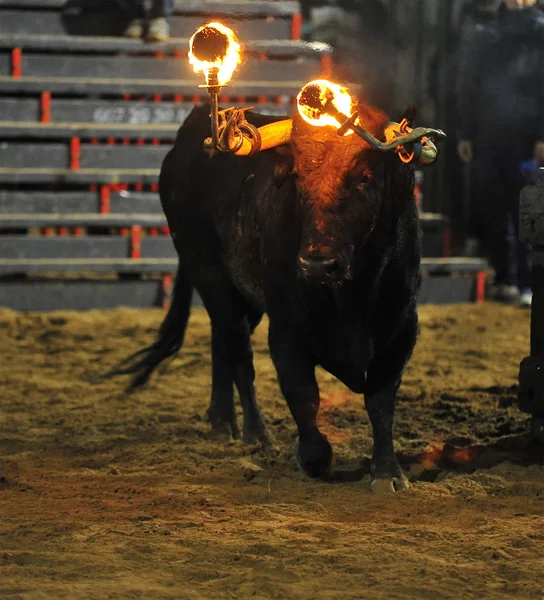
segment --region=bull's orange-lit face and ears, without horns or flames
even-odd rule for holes
[[[386,139],[388,119],[360,107],[366,131]],[[372,235],[391,201],[410,200],[411,168],[392,152],[376,150],[363,138],[338,136],[300,115],[291,133],[294,182],[302,212],[298,269],[306,281],[339,285],[354,275],[354,256]]]

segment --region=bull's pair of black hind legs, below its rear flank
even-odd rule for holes
[[[212,323],[212,399],[208,415],[212,426],[237,432],[232,383],[236,384],[244,414],[246,443],[266,441],[265,425],[255,398],[255,369],[251,332],[260,320],[230,281],[218,276],[213,286],[197,286]]]

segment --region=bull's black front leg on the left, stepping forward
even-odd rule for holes
[[[290,329],[274,327],[271,321],[268,332],[270,354],[281,391],[297,424],[297,460],[310,477],[326,477],[330,474],[332,448],[316,423],[319,388],[315,363],[304,344],[288,333]]]

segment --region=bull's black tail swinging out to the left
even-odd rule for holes
[[[160,326],[157,341],[129,356],[117,369],[108,373],[108,376],[133,375],[127,388],[128,392],[142,387],[159,364],[165,358],[176,354],[183,345],[185,329],[191,313],[192,296],[193,285],[180,265],[174,284],[172,303]]]

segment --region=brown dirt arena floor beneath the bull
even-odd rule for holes
[[[338,482],[298,469],[266,347],[257,392],[275,447],[211,435],[209,324],[150,385],[101,372],[159,310],[0,311],[0,598],[544,598],[544,467],[515,406],[529,313],[423,307],[400,391],[410,490],[368,491],[361,397],[320,373]]]

